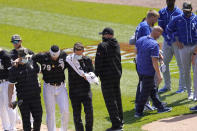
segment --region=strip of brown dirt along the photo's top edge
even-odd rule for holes
[[[78,0],[87,2],[97,2],[97,3],[108,3],[108,4],[120,4],[120,5],[134,5],[143,6],[150,8],[162,8],[165,7],[165,0]],[[186,0],[177,0],[176,4],[178,7],[182,7],[182,3]],[[197,10],[197,0],[190,0],[193,5],[193,10]]]

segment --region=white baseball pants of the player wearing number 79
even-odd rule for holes
[[[46,121],[48,131],[56,131],[55,105],[58,104],[61,113],[60,131],[67,131],[69,122],[69,102],[65,83],[60,86],[52,86],[44,83],[43,96],[46,107]]]

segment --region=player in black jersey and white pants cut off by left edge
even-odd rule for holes
[[[8,52],[0,48],[0,118],[3,130],[15,130],[16,109],[8,108],[8,72],[11,68],[11,59]],[[16,93],[12,101],[16,100]]]

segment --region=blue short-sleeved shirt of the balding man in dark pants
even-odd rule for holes
[[[141,75],[154,76],[155,69],[152,57],[159,58],[159,45],[150,36],[141,37],[136,41],[137,49],[137,71]]]

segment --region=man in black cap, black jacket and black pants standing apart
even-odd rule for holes
[[[113,38],[114,31],[105,28],[102,34],[102,43],[98,45],[95,58],[95,74],[100,77],[101,88],[105,104],[112,122],[107,131],[123,130],[123,109],[120,91],[122,75],[120,45]]]

